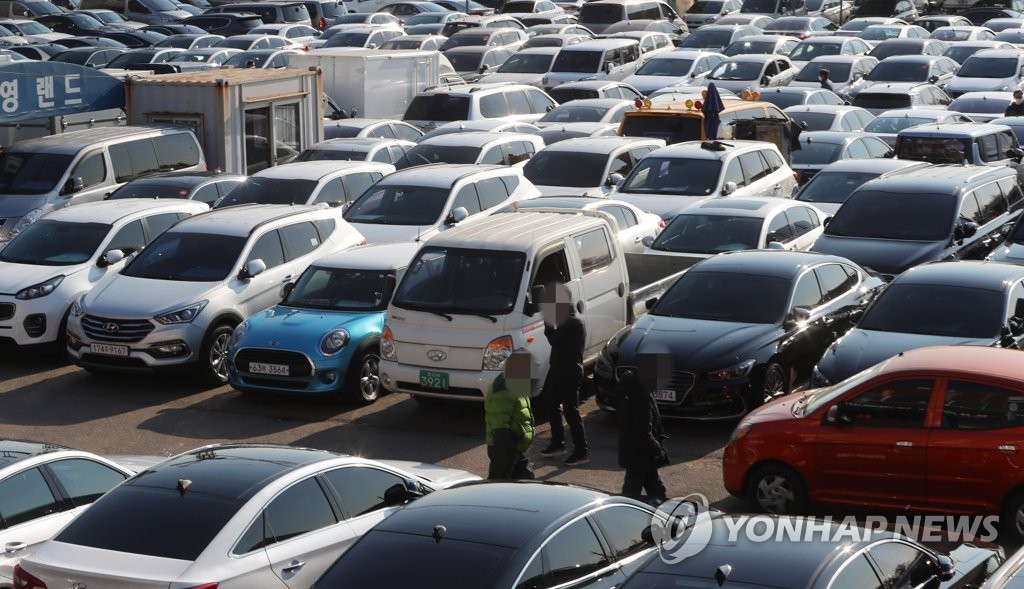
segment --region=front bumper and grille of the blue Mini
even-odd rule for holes
[[[338,355],[324,357],[297,349],[240,346],[228,355],[227,382],[247,392],[336,393],[345,386],[353,348],[346,346]],[[253,372],[254,363],[287,367],[288,375]]]

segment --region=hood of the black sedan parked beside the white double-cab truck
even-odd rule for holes
[[[697,321],[646,314],[633,329],[628,342],[632,354],[658,350],[672,355],[678,370],[706,372],[750,359],[773,340],[774,325]]]

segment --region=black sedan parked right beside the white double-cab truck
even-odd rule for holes
[[[614,409],[616,375],[638,353],[668,353],[673,377],[655,391],[663,416],[737,419],[809,380],[883,286],[838,256],[755,250],[708,258],[608,341],[594,369],[598,404]]]

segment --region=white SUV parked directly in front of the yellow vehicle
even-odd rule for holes
[[[651,152],[611,198],[668,220],[708,197],[788,197],[797,175],[767,141],[686,141]]]

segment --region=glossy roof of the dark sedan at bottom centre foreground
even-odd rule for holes
[[[520,214],[520,213],[510,213]],[[567,215],[532,213],[545,218]],[[432,493],[376,525],[383,532],[430,536],[444,525],[444,539],[521,548],[567,515],[600,503],[626,503],[599,491],[541,482],[480,482]]]

